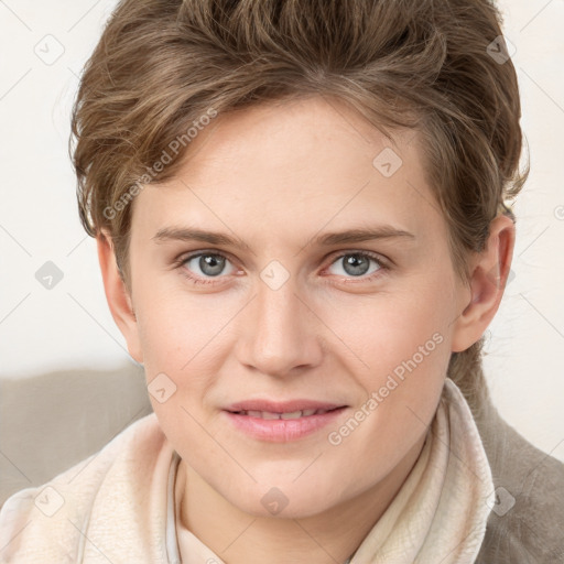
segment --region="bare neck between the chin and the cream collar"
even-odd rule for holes
[[[344,564],[392,502],[415,465],[424,441],[425,434],[369,490],[300,519],[243,512],[181,460],[176,477],[178,527],[189,530],[228,564]]]

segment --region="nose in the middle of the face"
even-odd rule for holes
[[[286,377],[318,366],[322,330],[313,306],[297,293],[293,278],[278,290],[258,280],[245,308],[238,341],[239,361],[256,371]]]

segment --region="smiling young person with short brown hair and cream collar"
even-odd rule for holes
[[[73,158],[154,413],[12,496],[4,561],[562,560],[481,370],[519,117],[486,0],[121,1]]]

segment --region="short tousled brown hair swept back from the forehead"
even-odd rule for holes
[[[529,174],[501,24],[488,0],[121,0],[73,107],[80,220],[88,235],[109,235],[131,291],[128,204],[174,177],[209,116],[323,96],[390,139],[417,132],[468,284],[468,257],[500,213],[516,220],[508,202]],[[447,367],[475,416],[488,395],[482,346],[484,336]]]

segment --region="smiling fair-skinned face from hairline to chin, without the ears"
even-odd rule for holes
[[[130,351],[184,463],[249,513],[369,491],[433,419],[469,293],[394,140],[337,101],[254,107],[134,199]]]

